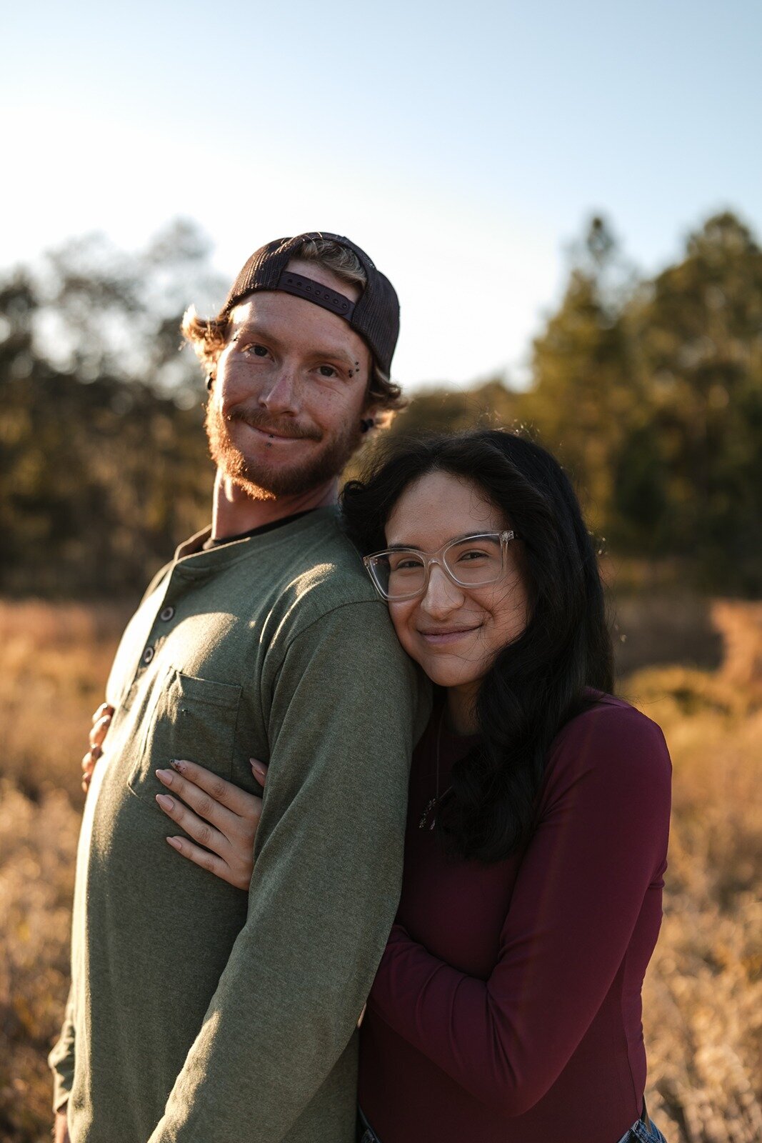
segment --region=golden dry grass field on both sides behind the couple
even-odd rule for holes
[[[720,672],[659,668],[620,688],[661,724],[674,760],[665,919],[644,997],[649,1110],[669,1143],[762,1140],[760,612],[732,605],[729,614],[720,620],[732,629],[733,662]],[[49,1138],[45,1057],[66,992],[79,759],[123,618],[105,608],[0,604],[0,1140],[8,1143]]]

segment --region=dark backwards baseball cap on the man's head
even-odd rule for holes
[[[302,243],[311,239],[337,242],[356,255],[367,278],[356,302],[312,278],[304,278],[286,269],[291,258],[298,257]],[[321,305],[324,310],[344,318],[368,344],[378,367],[384,373],[390,373],[400,333],[400,303],[388,278],[376,270],[366,251],[348,238],[315,230],[307,234],[297,234],[295,238],[276,238],[259,247],[233,282],[222,312],[230,313],[249,294],[264,289],[279,289],[286,294],[294,294],[295,297],[313,302],[314,305]]]

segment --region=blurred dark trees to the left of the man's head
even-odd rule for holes
[[[177,350],[207,257],[174,224],[143,255],[88,239],[0,285],[2,590],[136,592],[206,520],[203,389]]]

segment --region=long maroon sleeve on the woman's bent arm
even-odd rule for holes
[[[370,1010],[482,1103],[507,1116],[532,1108],[611,988],[649,886],[660,889],[669,782],[661,733],[636,711],[602,705],[569,724],[489,978],[395,925]]]

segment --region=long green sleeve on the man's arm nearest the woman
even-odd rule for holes
[[[274,1143],[346,1049],[399,901],[420,694],[376,602],[290,644],[247,921],[151,1143]]]

